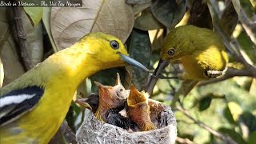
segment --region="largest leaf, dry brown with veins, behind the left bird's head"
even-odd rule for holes
[[[62,50],[97,31],[126,42],[134,26],[134,14],[124,0],[83,0],[79,8],[52,8],[50,22],[54,42]]]

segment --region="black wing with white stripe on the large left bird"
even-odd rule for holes
[[[13,122],[33,110],[43,93],[41,87],[28,86],[20,90],[11,90],[0,97],[0,126]]]

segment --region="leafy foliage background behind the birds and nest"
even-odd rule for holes
[[[201,82],[173,107],[178,121],[177,142],[225,143],[231,138],[237,143],[256,143],[255,0],[82,2],[80,8],[22,7],[19,13],[14,7],[0,7],[0,86],[95,31],[120,38],[130,56],[153,71],[168,31],[181,25],[206,27],[225,43],[229,69],[222,78]],[[175,75],[179,70],[180,66],[168,66],[164,74]],[[91,84],[94,80],[113,86],[117,72],[126,88],[132,82],[139,90],[146,89],[150,74],[126,66],[86,79],[78,88],[77,98],[97,91]],[[152,98],[170,105],[180,84],[174,79],[158,80]],[[74,103],[70,106],[66,120],[74,132],[86,118],[83,111]],[[56,137],[53,143],[62,143]]]

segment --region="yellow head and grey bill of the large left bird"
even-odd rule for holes
[[[128,57],[125,46],[122,42],[109,34],[90,33],[82,38],[78,45],[86,45],[86,53],[94,58],[98,65],[106,68],[114,66],[125,66],[126,62],[133,66],[138,66],[143,70],[149,71],[141,63]]]

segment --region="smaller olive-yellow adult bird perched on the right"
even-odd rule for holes
[[[166,35],[156,75],[170,62],[182,64],[184,72],[178,78],[186,95],[201,80],[223,74],[228,62],[225,46],[214,31],[196,26],[178,26]]]

